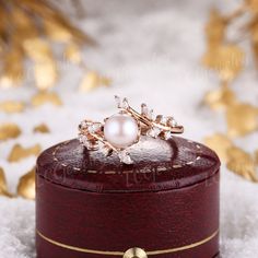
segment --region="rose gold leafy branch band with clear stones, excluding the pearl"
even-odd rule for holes
[[[183,133],[184,127],[178,126],[173,117],[164,117],[163,115],[154,116],[153,109],[149,109],[146,104],[141,105],[141,113],[134,110],[128,103],[127,98],[120,98],[115,96],[117,108],[120,115],[132,117],[138,124],[137,143],[140,140],[140,136],[148,136],[151,138],[160,138],[168,140],[173,137],[173,133]],[[97,150],[101,148],[105,155],[110,155],[116,152],[122,163],[132,164],[127,146],[115,146],[108,142],[104,136],[105,122],[109,118],[102,122],[95,122],[91,120],[83,120],[79,125],[79,140],[89,150]]]

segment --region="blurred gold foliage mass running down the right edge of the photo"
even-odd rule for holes
[[[258,151],[254,154],[247,153],[233,142],[235,138],[258,130],[258,106],[241,102],[231,89],[234,80],[245,69],[247,50],[239,46],[239,40],[227,38],[227,32],[230,26],[244,15],[245,24],[236,33],[239,37],[244,31],[247,33],[245,39],[250,42],[258,66],[258,0],[245,0],[226,15],[213,9],[206,25],[207,50],[202,64],[218,73],[221,86],[208,92],[203,103],[214,110],[224,112],[227,131],[207,137],[204,142],[218,152],[230,171],[257,183]]]

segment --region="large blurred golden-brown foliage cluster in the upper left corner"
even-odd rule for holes
[[[34,64],[37,89],[48,90],[58,80],[52,42],[67,46],[61,57],[68,56],[74,63],[81,61],[81,46],[94,44],[47,0],[0,1],[0,87],[21,85],[30,77],[28,62]]]

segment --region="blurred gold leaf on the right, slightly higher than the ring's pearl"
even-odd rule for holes
[[[225,109],[236,103],[236,96],[231,89],[222,86],[219,90],[208,92],[204,95],[203,103],[215,110]]]

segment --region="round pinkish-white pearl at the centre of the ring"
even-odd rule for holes
[[[138,124],[126,114],[109,117],[104,125],[104,137],[115,148],[126,149],[138,139]]]

